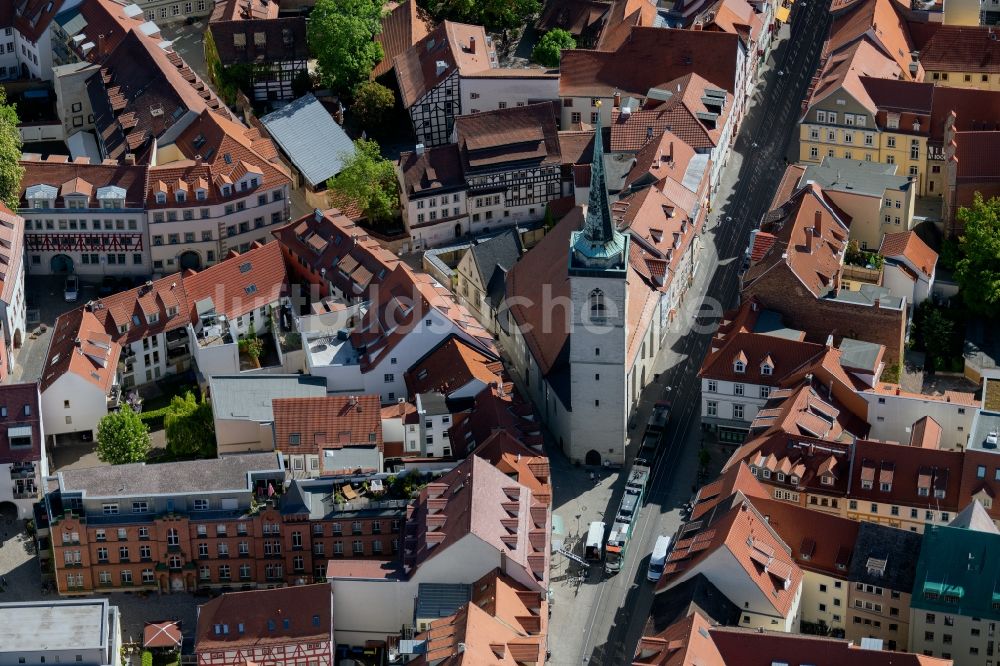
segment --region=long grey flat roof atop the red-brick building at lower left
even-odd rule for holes
[[[70,469],[59,472],[59,485],[64,494],[82,492],[85,498],[208,493],[250,490],[253,484],[247,475],[251,472],[283,473],[278,454],[246,453],[214,460]]]

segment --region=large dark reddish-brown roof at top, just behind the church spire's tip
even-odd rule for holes
[[[573,49],[560,63],[560,97],[646,97],[650,88],[696,73],[733,93],[739,37],[706,30],[635,28],[615,51]],[[644,63],[636,67],[636,63]]]

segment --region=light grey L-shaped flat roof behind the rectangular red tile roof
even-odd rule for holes
[[[217,375],[208,380],[217,419],[274,420],[274,398],[322,398],[326,380],[309,375]]]

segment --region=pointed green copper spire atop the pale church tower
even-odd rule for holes
[[[600,102],[598,102],[600,104]],[[598,106],[598,108],[600,108]],[[590,162],[590,193],[584,210],[583,228],[570,239],[570,271],[624,271],[628,261],[628,237],[615,228],[604,174],[604,137],[598,112],[594,128],[594,154]]]

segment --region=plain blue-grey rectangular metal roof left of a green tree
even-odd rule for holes
[[[312,93],[260,119],[311,187],[344,168],[354,143]]]

